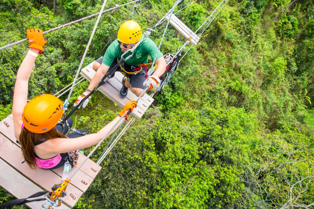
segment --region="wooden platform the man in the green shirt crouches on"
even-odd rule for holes
[[[95,62],[95,61],[94,61]],[[94,62],[90,63],[86,67],[81,70],[81,75],[88,80],[89,82],[95,76],[96,72],[93,70]],[[136,100],[137,96],[133,94],[131,91],[127,92],[127,97],[121,99],[119,97],[119,91],[122,88],[122,78],[123,74],[121,72],[115,72],[115,76],[109,79],[104,85],[100,86],[98,90],[103,93],[106,97],[108,97],[111,101],[115,102],[120,107],[124,107],[124,105],[130,100]],[[150,97],[148,94],[144,94],[138,100],[137,107],[133,109],[131,113],[135,118],[141,118],[147,108],[152,104],[154,99]]]

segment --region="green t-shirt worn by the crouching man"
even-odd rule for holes
[[[113,62],[113,60],[115,58],[121,58],[121,55],[123,54],[121,48],[120,48],[120,44],[117,41],[118,39],[114,40],[108,47],[108,49],[105,52],[104,55],[104,59],[102,60],[102,63],[104,63],[107,66],[110,66]],[[152,60],[154,59],[156,52],[158,50],[158,47],[156,46],[156,44],[154,43],[154,41],[152,41],[152,39],[146,37],[136,48],[136,50],[134,50],[134,54],[133,56],[125,61],[124,63],[126,63],[127,65],[138,65],[138,64],[142,64],[142,63],[147,63],[147,57],[148,55],[152,58]],[[126,55],[124,55],[123,57],[126,58],[128,55],[131,55],[131,52],[128,52]],[[156,60],[160,57],[162,57],[162,53],[160,52],[160,50],[158,50],[157,53],[157,57]]]

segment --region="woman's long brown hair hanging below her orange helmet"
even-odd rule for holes
[[[52,138],[66,138],[66,136],[64,134],[58,133],[54,128],[45,133],[33,133],[23,127],[21,134],[19,135],[19,142],[22,147],[22,155],[24,160],[31,169],[35,170],[37,168],[34,156],[35,144],[38,142],[47,141],[48,139]]]

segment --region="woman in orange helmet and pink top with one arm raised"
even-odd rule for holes
[[[116,124],[119,118],[129,109],[133,111],[136,101],[126,103],[118,116],[100,129],[99,132],[68,138],[54,127],[63,115],[63,104],[60,99],[43,94],[27,102],[28,81],[38,53],[42,53],[47,40],[41,30],[28,29],[29,51],[19,67],[16,76],[13,96],[14,134],[21,144],[22,155],[31,169],[37,167],[54,169],[64,165],[68,160],[66,153],[83,149],[100,142],[106,133]],[[128,119],[128,113],[125,116]],[[123,122],[120,121],[110,132],[113,133]]]

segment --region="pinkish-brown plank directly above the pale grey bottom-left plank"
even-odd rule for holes
[[[21,149],[16,144],[10,142],[3,135],[0,135],[0,153],[1,159],[45,190],[50,191],[54,184],[61,182],[61,177],[51,170],[31,170],[26,163],[21,164],[23,160]],[[83,194],[82,191],[77,189],[72,184],[68,185],[66,192],[68,195],[62,198],[62,201],[71,208]],[[72,194],[75,199],[73,199],[70,194]]]

